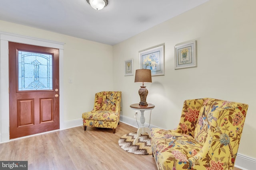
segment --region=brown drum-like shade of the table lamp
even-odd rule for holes
[[[152,83],[151,70],[149,69],[138,69],[135,73],[136,83]]]

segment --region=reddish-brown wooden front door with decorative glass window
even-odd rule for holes
[[[59,129],[59,50],[9,42],[9,96],[10,139]]]

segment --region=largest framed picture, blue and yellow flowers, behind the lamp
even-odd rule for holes
[[[139,51],[140,69],[150,69],[152,76],[164,75],[164,44]]]

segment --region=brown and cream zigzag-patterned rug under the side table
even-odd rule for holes
[[[136,132],[123,135],[119,140],[119,146],[127,152],[134,154],[152,154],[150,138],[148,135],[140,135],[138,143],[133,145],[134,139],[137,137]]]

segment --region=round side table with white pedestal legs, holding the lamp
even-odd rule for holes
[[[142,105],[139,105],[139,104],[132,104],[132,105],[130,105],[130,107],[134,110],[140,110],[140,124],[141,124],[141,127],[138,128],[137,137],[133,141],[133,144],[135,144],[135,143],[138,142],[138,139],[139,139],[140,135],[144,134],[145,132],[148,133],[148,136],[150,137],[150,129],[148,127],[145,127],[145,125],[144,125],[144,123],[145,123],[144,111],[154,109],[155,105],[148,104],[147,106],[142,106]]]

